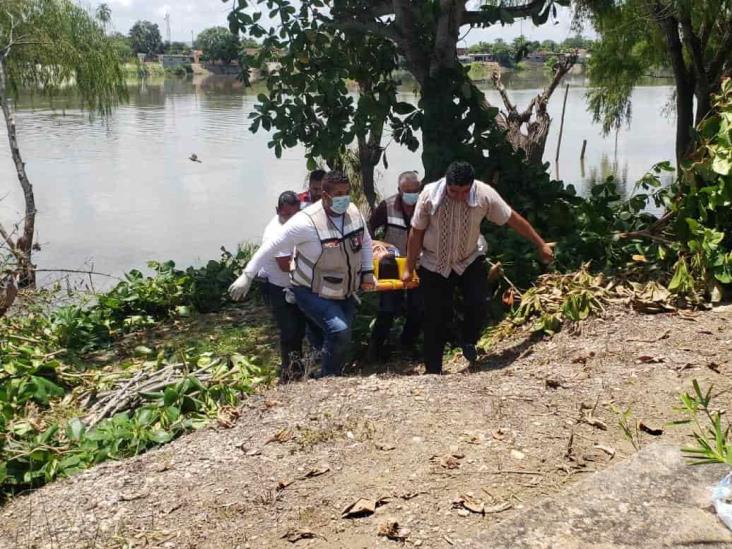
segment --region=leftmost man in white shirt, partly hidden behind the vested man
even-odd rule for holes
[[[273,240],[283,225],[300,211],[300,200],[292,191],[286,191],[277,200],[277,214],[267,224],[262,244]],[[305,315],[297,305],[287,302],[285,291],[290,287],[290,262],[292,250],[271,254],[262,261],[258,277],[267,282],[265,298],[272,309],[280,330],[280,381],[288,382],[301,377],[302,340],[305,337]],[[295,371],[297,370],[297,371]]]

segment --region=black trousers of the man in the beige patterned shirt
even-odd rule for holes
[[[442,355],[453,318],[453,298],[459,288],[463,298],[462,343],[475,345],[488,316],[488,268],[479,256],[463,274],[455,271],[445,278],[425,268],[419,269],[424,298],[424,361],[427,373],[442,373]]]

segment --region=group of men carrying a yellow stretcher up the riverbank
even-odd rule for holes
[[[460,343],[470,362],[488,313],[488,269],[483,219],[508,225],[551,262],[551,245],[537,234],[489,185],[475,180],[473,167],[453,162],[445,177],[422,188],[416,172],[399,176],[398,192],[381,202],[368,222],[351,203],[350,183],[340,171],[316,170],[308,189],[282,193],[277,215],[261,247],[231,285],[243,299],[255,277],[266,278],[266,295],[280,330],[281,379],[301,361],[303,339],[320,354],[320,376],[343,373],[359,290],[375,288],[373,258],[406,256],[402,281],[419,286],[380,294],[369,354],[386,357],[394,319],[406,320],[401,343],[413,349],[423,334],[427,373],[442,373],[442,357],[454,311],[462,293]],[[379,240],[372,238],[383,231]]]

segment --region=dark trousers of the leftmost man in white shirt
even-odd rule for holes
[[[302,372],[293,372],[293,362],[302,357],[306,318],[297,305],[287,303],[284,288],[267,283],[266,295],[272,315],[280,330],[280,379],[288,380]]]

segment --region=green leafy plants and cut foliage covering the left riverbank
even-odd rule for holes
[[[183,349],[161,348],[154,360],[133,362],[114,373],[114,381],[105,381],[106,370],[84,363],[85,353],[130,331],[194,311],[218,310],[251,253],[251,248],[235,256],[224,251],[221,260],[185,271],[172,262],[153,262],[151,276],[128,273],[90,306],[49,313],[31,308],[0,319],[0,497],[164,444],[268,383],[272,369],[239,354],[257,349],[256,343],[241,341],[241,330],[233,346],[211,349],[206,340],[194,347],[181,342],[188,345]],[[144,354],[156,356],[153,350]],[[144,394],[141,405],[93,428],[82,421],[85,407],[99,391],[119,383],[120,374],[125,379],[140,368],[154,372],[180,362],[188,375]],[[202,369],[205,381],[196,373]]]

